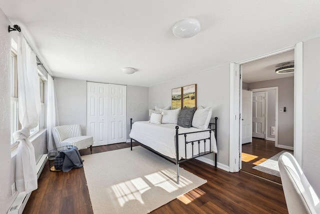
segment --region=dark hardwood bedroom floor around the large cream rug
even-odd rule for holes
[[[124,147],[129,143],[93,147],[93,153]],[[80,153],[90,151],[82,149]],[[242,171],[230,173],[195,159],[180,166],[207,182],[152,213],[287,213],[279,184]],[[93,213],[83,168],[52,172],[46,163],[38,189],[31,193],[23,213]]]

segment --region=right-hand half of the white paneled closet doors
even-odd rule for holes
[[[108,144],[126,141],[126,85],[108,84]]]

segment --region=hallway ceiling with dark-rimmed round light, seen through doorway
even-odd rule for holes
[[[275,73],[275,69],[286,62],[294,62],[294,50],[242,64],[242,81],[251,83],[293,76],[294,73]]]

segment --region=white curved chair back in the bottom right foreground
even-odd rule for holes
[[[320,200],[293,155],[284,152],[278,165],[289,213],[320,213]]]

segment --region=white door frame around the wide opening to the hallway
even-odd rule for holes
[[[242,88],[240,65],[258,59],[273,56],[279,53],[294,50],[294,157],[301,163],[302,147],[302,53],[303,43],[299,42],[294,46],[270,52],[268,54],[247,59],[237,63],[230,63],[230,126],[229,126],[229,171],[236,172],[241,168],[241,93]],[[241,81],[240,81],[241,79]],[[239,131],[240,130],[240,131]]]

